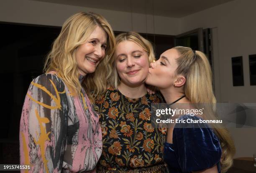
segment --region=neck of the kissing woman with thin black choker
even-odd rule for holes
[[[164,96],[164,100],[166,101],[166,103],[170,104],[173,103],[174,101],[178,100],[179,98],[181,98],[184,94],[184,91],[181,91],[177,88],[166,88],[166,89],[160,89],[160,92],[162,93],[162,95]],[[181,100],[179,100],[177,103],[187,103],[188,100],[186,97],[182,98]]]

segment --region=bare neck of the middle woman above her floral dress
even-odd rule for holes
[[[146,95],[147,93],[145,83],[142,83],[141,85],[137,86],[129,86],[121,81],[118,85],[118,90],[120,91],[120,93],[122,93],[128,98],[140,98]]]

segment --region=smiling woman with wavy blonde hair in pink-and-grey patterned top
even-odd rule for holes
[[[102,134],[90,91],[106,89],[114,47],[113,30],[101,15],[77,13],[65,21],[45,74],[31,82],[23,105],[20,164],[30,166],[23,171],[95,172]]]

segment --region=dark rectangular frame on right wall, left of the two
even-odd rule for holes
[[[231,60],[233,86],[243,86],[243,57],[233,57]]]

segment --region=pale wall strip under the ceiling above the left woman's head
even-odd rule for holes
[[[179,19],[176,18],[154,16],[153,19],[153,15],[138,13],[131,15],[131,13],[127,12],[84,8],[33,0],[0,1],[0,21],[2,22],[61,26],[69,16],[81,11],[92,11],[103,15],[110,22],[113,30],[116,31],[135,30],[140,33],[166,35],[177,35],[179,33]],[[133,25],[131,21],[133,21]]]

